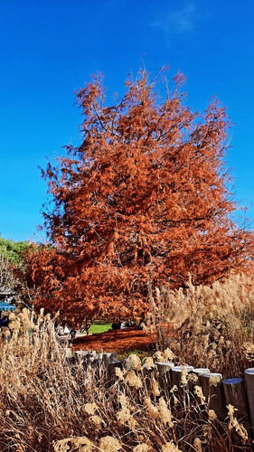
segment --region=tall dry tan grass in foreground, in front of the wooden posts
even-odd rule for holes
[[[152,358],[144,369],[132,355],[109,379],[103,368],[66,359],[49,316],[34,324],[24,310],[12,314],[10,328],[0,348],[0,450],[234,450],[230,424],[219,423],[186,381],[163,390]],[[238,450],[246,450],[249,439],[240,438]]]

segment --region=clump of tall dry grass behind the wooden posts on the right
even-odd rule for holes
[[[186,286],[156,287],[151,294],[148,330],[156,334],[158,348],[170,346],[182,363],[225,378],[241,376],[254,362],[253,278],[231,275],[211,287],[194,287],[190,279]]]

